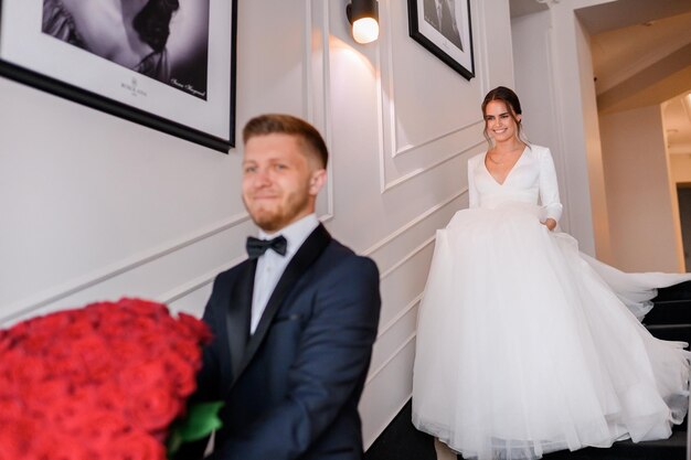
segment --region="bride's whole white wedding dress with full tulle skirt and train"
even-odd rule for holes
[[[691,278],[624,274],[542,225],[562,211],[544,147],[503,184],[485,153],[468,175],[470,208],[437,232],[419,307],[414,425],[479,460],[669,437],[691,354],[639,320],[656,288]]]

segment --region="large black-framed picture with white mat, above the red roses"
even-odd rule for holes
[[[227,153],[236,12],[237,0],[0,0],[0,76]]]

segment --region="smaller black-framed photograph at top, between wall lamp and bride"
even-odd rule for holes
[[[466,79],[475,76],[470,0],[408,0],[408,31]]]

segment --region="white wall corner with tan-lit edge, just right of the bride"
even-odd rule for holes
[[[587,33],[575,11],[612,0],[549,2],[517,18],[513,54],[517,90],[530,139],[551,148],[564,204],[562,227],[584,253],[609,260],[596,100]]]

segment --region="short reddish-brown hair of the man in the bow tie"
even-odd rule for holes
[[[285,114],[266,114],[254,117],[245,125],[243,129],[243,142],[256,136],[267,136],[273,133],[283,133],[297,136],[305,141],[307,150],[309,150],[315,159],[317,159],[321,168],[327,168],[329,161],[329,151],[323,138],[310,124]]]

